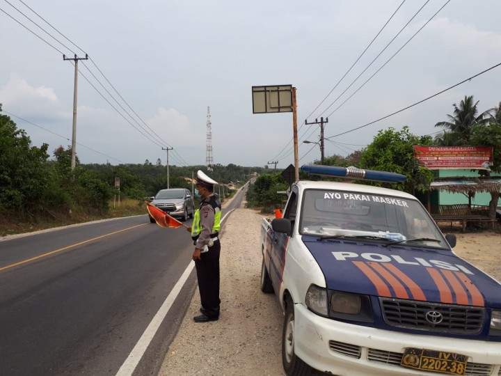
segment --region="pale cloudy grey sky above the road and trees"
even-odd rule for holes
[[[388,127],[434,136],[466,95],[480,111],[500,104],[501,66],[445,91],[501,63],[500,14],[500,0],[0,0],[0,103],[33,146],[67,148],[63,54],[88,54],[81,163],[204,165],[209,108],[214,164],[283,169],[292,113],[254,114],[253,86],[296,88],[300,165],[320,159],[319,125],[305,120],[328,118],[326,157]]]

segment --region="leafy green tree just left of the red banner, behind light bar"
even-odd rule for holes
[[[413,150],[413,146],[417,145],[431,146],[433,140],[430,136],[411,134],[408,127],[403,127],[401,131],[392,127],[380,130],[372,143],[362,150],[360,167],[401,173],[406,175],[406,181],[391,187],[410,194],[415,194],[416,191],[423,192],[431,184],[434,173],[417,162]]]

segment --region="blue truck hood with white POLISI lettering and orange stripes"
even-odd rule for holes
[[[500,284],[452,251],[358,240],[302,241],[327,288],[363,295],[499,308]]]

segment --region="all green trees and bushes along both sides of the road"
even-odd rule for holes
[[[396,189],[422,194],[434,179],[433,171],[424,169],[413,155],[413,146],[493,146],[491,171],[501,172],[501,102],[479,113],[472,96],[453,104],[454,112],[436,127],[442,132],[417,136],[408,127],[380,130],[372,143],[347,157],[332,155],[323,164],[356,166],[361,169],[392,171],[406,175]],[[81,164],[70,168],[71,149],[59,146],[49,155],[48,145],[32,146],[31,139],[9,116],[1,114],[0,104],[0,236],[38,230],[93,219],[145,214],[144,201],[167,187],[166,166],[161,160],[143,164]],[[321,164],[319,160],[315,164]],[[212,166],[169,166],[169,187],[191,190],[198,169],[221,183],[216,191],[224,201],[233,194],[228,187],[239,188],[257,175],[247,191],[247,205],[271,213],[283,207],[288,183],[282,171],[270,173],[268,166],[242,167],[234,164]],[[479,175],[486,171],[479,170]],[[116,187],[117,178],[120,188]],[[306,175],[300,173],[300,178]],[[308,177],[311,178],[311,177]],[[326,179],[329,178],[318,178]],[[378,182],[360,184],[383,185]],[[120,205],[118,205],[120,198]],[[498,203],[493,194],[491,207]]]

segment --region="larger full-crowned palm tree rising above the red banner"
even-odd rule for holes
[[[465,96],[459,106],[453,104],[454,106],[454,116],[447,115],[450,121],[439,121],[436,123],[436,127],[444,127],[451,133],[456,133],[458,137],[452,137],[454,140],[462,139],[461,143],[466,144],[470,141],[470,131],[473,125],[486,124],[489,122],[489,116],[491,116],[490,111],[484,111],[477,116],[477,102],[473,102],[473,95],[469,97]],[[443,138],[443,141],[447,141],[447,137]],[[456,144],[457,145],[457,144]]]

